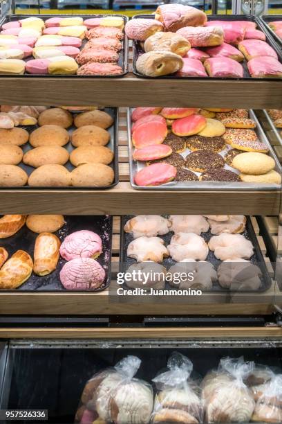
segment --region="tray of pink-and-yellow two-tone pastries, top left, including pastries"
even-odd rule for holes
[[[0,76],[122,77],[123,15],[8,15],[0,21]]]

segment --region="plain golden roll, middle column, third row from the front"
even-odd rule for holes
[[[65,145],[70,140],[68,132],[59,125],[42,125],[30,134],[33,147],[41,145]]]

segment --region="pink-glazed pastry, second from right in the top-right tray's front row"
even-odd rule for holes
[[[210,77],[243,78],[243,67],[236,60],[229,58],[209,58],[204,62],[205,69]]]

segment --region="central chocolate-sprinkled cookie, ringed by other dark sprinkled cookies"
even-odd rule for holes
[[[209,169],[223,168],[224,160],[218,153],[209,152],[208,150],[197,150],[188,154],[185,166],[196,173],[204,173]]]

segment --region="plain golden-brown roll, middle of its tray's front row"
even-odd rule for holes
[[[28,185],[33,187],[71,186],[71,173],[62,165],[43,165],[28,177]]]

